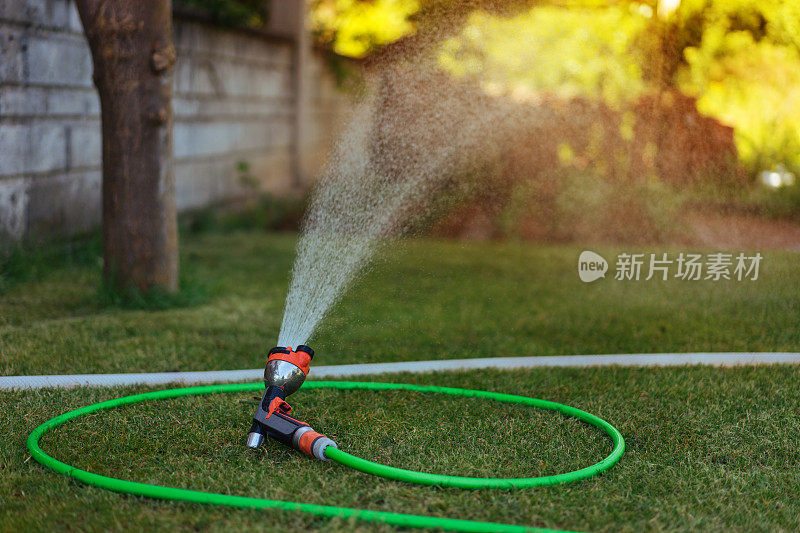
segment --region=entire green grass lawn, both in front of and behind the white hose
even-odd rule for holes
[[[109,307],[99,266],[70,266],[0,296],[0,374],[255,368],[274,342],[295,237],[205,234],[183,263],[201,303]],[[412,241],[377,264],[311,345],[316,364],[654,351],[798,351],[800,262],[765,253],[756,282],[581,283],[581,248]],[[622,248],[597,249],[612,257]],[[626,248],[624,251],[646,251]],[[660,250],[659,250],[660,251]],[[313,374],[312,374],[313,375]],[[417,487],[269,444],[244,448],[251,395],[145,403],[62,426],[42,446],[137,481],[328,505],[572,530],[800,529],[800,368],[593,368],[375,379],[567,403],[618,427],[622,461],[534,490]],[[24,442],[68,409],[145,388],[0,393],[0,530],[391,530],[303,515],[126,497],[45,470]],[[404,392],[301,391],[298,415],[340,447],[437,473],[520,477],[586,466],[599,431],[549,412]]]

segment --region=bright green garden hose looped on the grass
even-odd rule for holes
[[[44,424],[38,426],[28,437],[28,450],[31,456],[44,466],[66,476],[70,476],[78,481],[100,487],[115,492],[125,494],[135,494],[137,496],[147,496],[150,498],[158,498],[162,500],[181,500],[194,503],[206,503],[213,505],[225,505],[230,507],[242,507],[250,509],[281,509],[286,511],[300,511],[305,513],[314,514],[324,517],[340,517],[340,518],[356,518],[359,520],[366,520],[371,522],[380,522],[384,524],[391,524],[404,527],[419,527],[419,528],[440,528],[451,531],[487,531],[487,532],[522,532],[522,531],[552,531],[541,528],[531,528],[526,526],[518,526],[512,524],[497,524],[492,522],[478,522],[472,520],[459,520],[452,518],[439,518],[431,516],[419,516],[402,513],[390,513],[383,511],[369,511],[362,509],[350,509],[347,507],[334,507],[328,505],[315,505],[310,503],[287,502],[278,500],[268,500],[262,498],[248,498],[245,496],[232,496],[228,494],[216,494],[210,492],[201,492],[196,490],[178,489],[175,487],[164,487],[160,485],[150,485],[147,483],[137,483],[134,481],[127,481],[124,479],[117,479],[108,476],[102,476],[92,472],[87,472],[74,466],[55,459],[54,457],[46,454],[39,446],[39,440],[50,429],[60,426],[65,422],[78,418],[80,416],[105,409],[113,409],[122,405],[132,403],[144,402],[149,400],[163,400],[167,398],[178,398],[182,396],[196,396],[201,394],[221,393],[221,392],[243,392],[243,391],[257,391],[264,387],[262,383],[235,383],[230,385],[209,385],[202,387],[187,387],[180,389],[166,389],[155,392],[146,392],[143,394],[134,394],[131,396],[124,396],[122,398],[115,398],[105,402],[100,402],[92,405],[87,405],[73,411],[69,411],[55,418],[52,418]],[[505,403],[515,403],[522,405],[529,405],[541,409],[548,409],[560,412],[564,415],[583,420],[593,426],[602,429],[614,443],[614,448],[611,453],[602,461],[580,470],[568,472],[566,474],[557,474],[552,476],[532,477],[532,478],[519,478],[519,479],[490,479],[490,478],[470,478],[458,476],[444,476],[437,474],[429,474],[424,472],[414,472],[411,470],[403,470],[401,468],[394,468],[372,461],[367,461],[359,457],[355,457],[336,448],[329,447],[326,449],[326,455],[329,459],[341,463],[345,466],[374,474],[389,479],[399,481],[407,481],[410,483],[418,483],[423,485],[438,485],[448,487],[460,488],[526,488],[537,487],[543,485],[554,485],[557,483],[567,483],[570,481],[577,481],[594,476],[604,470],[611,468],[625,451],[625,441],[620,432],[611,424],[589,414],[580,409],[569,407],[567,405],[558,404],[555,402],[548,402],[545,400],[537,400],[535,398],[528,398],[525,396],[516,396],[512,394],[501,394],[496,392],[485,392],[470,389],[456,389],[450,387],[433,387],[423,385],[409,385],[404,383],[371,383],[371,382],[355,382],[355,381],[307,381],[304,385],[306,389],[366,389],[366,390],[409,390],[417,392],[435,392],[442,394],[450,394],[455,396],[468,396],[478,398],[488,398]]]

